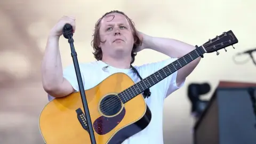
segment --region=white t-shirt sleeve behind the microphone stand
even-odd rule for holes
[[[84,74],[81,65],[79,65],[80,73],[84,86]],[[67,79],[67,81],[73,86],[76,92],[79,91],[78,81],[76,77],[76,71],[74,65],[69,65],[63,70],[63,78]]]

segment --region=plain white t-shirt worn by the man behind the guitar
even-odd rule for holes
[[[169,65],[175,60],[177,59],[169,58],[167,60],[148,63],[142,66],[134,66],[134,68],[138,70],[142,78],[146,78],[147,76],[155,73],[157,70]],[[140,78],[137,76],[132,68],[119,69],[111,66],[106,66],[108,66],[107,63],[102,61],[93,61],[89,63],[79,64],[85,90],[91,89],[92,87],[98,85],[100,82],[103,81],[103,79],[107,78],[109,75],[120,72],[130,76],[135,83],[140,81]],[[63,77],[65,77],[70,82],[70,84],[74,87],[76,91],[79,91],[74,65],[70,65],[65,70],[63,70]],[[177,71],[169,77],[166,77],[156,85],[150,87],[151,95],[149,98],[146,98],[145,101],[151,110],[151,122],[144,130],[137,134],[134,134],[129,139],[126,139],[123,144],[163,143],[164,99],[175,90],[178,90],[184,84],[184,82],[182,82],[178,86],[176,83],[176,77]],[[48,98],[49,101],[53,99],[53,97],[51,97],[50,95],[48,95]]]

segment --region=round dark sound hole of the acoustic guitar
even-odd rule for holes
[[[117,95],[107,95],[100,102],[100,111],[106,116],[117,114],[122,108],[122,101]]]

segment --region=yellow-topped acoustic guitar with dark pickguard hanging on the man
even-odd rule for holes
[[[236,43],[238,39],[229,30],[202,46],[196,46],[195,50],[136,84],[126,74],[116,73],[85,90],[96,143],[122,143],[145,129],[150,123],[151,113],[141,94],[144,90],[203,57],[204,53],[219,54],[218,50]],[[39,130],[47,144],[91,143],[80,93],[71,93],[47,103],[39,116]]]

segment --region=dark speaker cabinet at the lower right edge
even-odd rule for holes
[[[194,126],[194,144],[256,144],[256,117],[249,87],[256,90],[256,84],[219,84]]]

